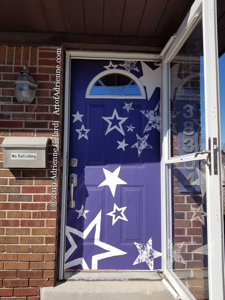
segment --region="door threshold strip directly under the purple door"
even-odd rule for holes
[[[161,280],[156,271],[65,272],[65,280]]]

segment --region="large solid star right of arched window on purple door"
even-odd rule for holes
[[[146,87],[147,98],[151,98],[156,87],[161,86],[161,68],[151,69],[146,63],[141,61],[143,76],[139,78],[141,83]]]

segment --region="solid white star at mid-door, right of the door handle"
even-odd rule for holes
[[[124,180],[118,177],[120,173],[120,166],[114,172],[110,172],[104,168],[102,169],[105,174],[105,180],[102,181],[102,183],[100,183],[98,187],[105,187],[108,185],[112,196],[114,197],[117,184],[127,184]]]

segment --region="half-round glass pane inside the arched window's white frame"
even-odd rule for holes
[[[90,95],[140,96],[141,91],[132,78],[113,73],[98,79],[91,88]]]

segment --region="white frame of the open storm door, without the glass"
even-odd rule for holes
[[[183,162],[181,157],[169,157],[170,147],[170,128],[169,115],[170,111],[168,101],[168,63],[178,52],[181,45],[190,35],[195,26],[196,20],[201,17],[203,21],[203,45],[204,45],[204,81],[205,81],[205,120],[206,120],[206,144],[208,138],[211,138],[211,151],[213,151],[213,138],[217,138],[217,155],[218,155],[218,175],[214,175],[213,152],[211,152],[212,175],[209,169],[206,169],[206,193],[207,193],[207,220],[208,220],[208,268],[209,268],[209,297],[210,300],[225,299],[224,294],[224,246],[223,246],[223,207],[222,207],[222,179],[221,179],[221,146],[220,146],[220,123],[219,123],[219,80],[218,80],[218,51],[217,51],[217,28],[216,28],[216,0],[196,0],[181,24],[177,36],[163,57],[162,61],[162,147],[164,157],[162,157],[162,252],[163,252],[163,269],[174,288],[177,290],[182,299],[194,299],[180,285],[179,280],[172,276],[167,269],[167,228],[171,224],[167,221],[166,211],[166,165]],[[208,150],[208,149],[207,149]],[[184,158],[184,156],[183,156]],[[204,155],[201,158],[205,159]],[[186,156],[185,159],[191,161],[194,157]],[[196,159],[196,158],[195,158]]]

